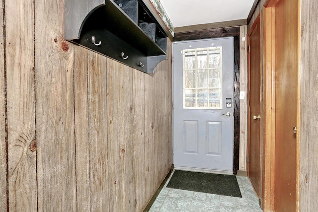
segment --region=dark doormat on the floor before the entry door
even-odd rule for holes
[[[231,197],[242,197],[235,175],[175,170],[167,187]]]

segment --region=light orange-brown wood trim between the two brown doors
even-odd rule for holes
[[[275,174],[275,8],[263,9],[263,182],[262,208],[274,211]]]

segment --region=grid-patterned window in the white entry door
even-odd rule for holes
[[[183,108],[222,109],[222,47],[183,50]]]

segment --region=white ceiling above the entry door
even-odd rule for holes
[[[174,27],[246,19],[254,0],[160,0]]]

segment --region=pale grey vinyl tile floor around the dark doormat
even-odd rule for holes
[[[170,189],[168,179],[149,212],[262,212],[249,179],[237,179],[242,198]]]

